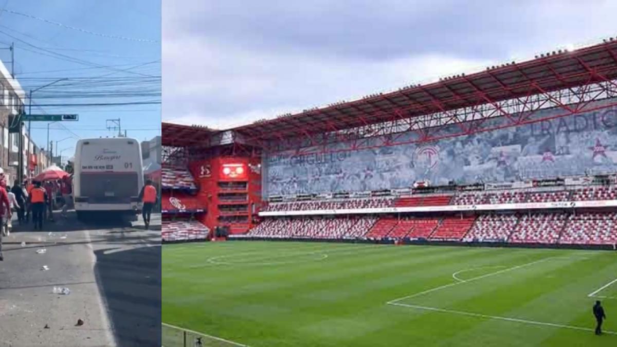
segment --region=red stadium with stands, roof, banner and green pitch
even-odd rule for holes
[[[162,143],[165,346],[617,343],[614,38]]]

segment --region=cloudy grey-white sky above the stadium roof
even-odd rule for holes
[[[163,119],[228,128],[617,36],[617,1],[163,0]]]

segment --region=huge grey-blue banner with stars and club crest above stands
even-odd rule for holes
[[[560,114],[563,110],[545,109],[530,118]],[[500,117],[484,123],[499,127],[504,122]],[[450,125],[438,131],[446,135],[458,128]],[[400,138],[413,136],[404,133]],[[408,188],[414,182],[521,182],[584,175],[586,169],[587,174],[610,174],[617,172],[617,107],[432,143],[304,156],[279,153],[265,162],[268,194]]]

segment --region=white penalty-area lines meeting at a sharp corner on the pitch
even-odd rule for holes
[[[521,269],[522,267],[526,267],[526,266],[529,266],[529,265],[537,264],[539,262],[547,261],[547,260],[553,259],[553,258],[555,258],[555,257],[547,257],[547,258],[540,259],[540,260],[537,260],[537,261],[528,262],[526,264],[516,265],[516,266],[513,266],[513,267],[508,267],[508,269],[503,269],[503,270],[491,272],[490,274],[486,274],[486,275],[482,275],[482,276],[478,276],[478,277],[473,277],[473,278],[470,278],[468,280],[460,280],[460,282],[454,282],[454,283],[450,283],[448,285],[437,286],[437,287],[431,288],[429,290],[420,291],[419,293],[415,293],[415,294],[408,295],[408,296],[403,296],[402,298],[398,298],[398,299],[394,299],[394,300],[388,301],[386,304],[392,305],[392,306],[400,306],[400,307],[408,307],[408,308],[413,308],[413,309],[421,309],[421,310],[424,310],[424,311],[442,312],[442,313],[449,313],[449,314],[458,314],[458,315],[461,315],[461,316],[468,316],[468,317],[478,317],[478,318],[486,318],[486,319],[504,320],[504,321],[507,321],[507,322],[517,322],[517,323],[523,323],[523,324],[543,325],[545,327],[568,328],[568,329],[573,329],[573,330],[582,330],[582,331],[586,331],[586,332],[595,332],[595,330],[592,329],[592,328],[576,327],[574,325],[556,324],[556,323],[549,323],[549,322],[538,322],[536,320],[520,319],[520,318],[513,318],[513,317],[503,317],[503,316],[491,316],[489,314],[481,314],[481,313],[475,313],[475,312],[457,311],[457,310],[451,310],[451,309],[442,309],[442,308],[439,308],[439,307],[429,307],[429,306],[420,306],[420,305],[398,303],[398,301],[401,301],[401,300],[404,300],[404,299],[415,298],[416,296],[420,296],[420,295],[424,295],[424,294],[427,294],[427,293],[431,293],[433,291],[449,288],[450,286],[461,285],[463,283],[473,282],[473,281],[479,280],[481,278],[486,278],[486,277],[490,277],[490,276],[497,275],[497,274],[503,274],[503,272],[508,272],[508,271],[511,271],[511,270]],[[609,285],[614,283],[614,282],[617,282],[617,279],[615,281],[609,283]],[[604,289],[607,286],[608,285],[604,286],[601,289]],[[597,292],[599,292],[599,290]],[[617,335],[617,332],[605,331],[605,333],[608,333],[610,335]]]

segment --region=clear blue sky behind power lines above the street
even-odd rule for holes
[[[10,70],[6,48],[14,43],[23,90],[68,78],[32,98],[32,114],[79,115],[78,122],[49,125],[49,140],[59,141],[65,157],[79,138],[116,135],[107,119],[119,118],[126,135],[140,141],[160,135],[160,10],[155,0],[0,0],[0,60]],[[124,105],[100,105],[109,103]],[[32,123],[40,148],[48,148],[47,128]]]

